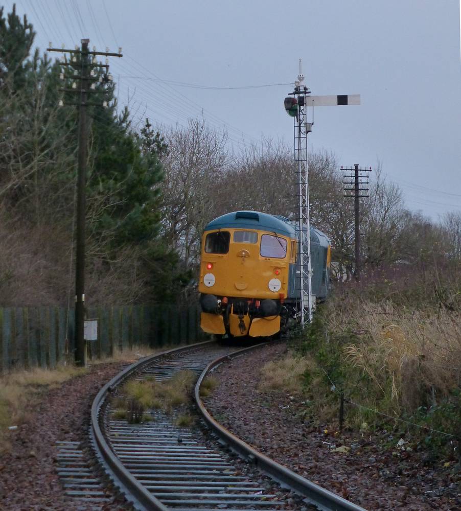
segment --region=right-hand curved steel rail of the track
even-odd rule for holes
[[[311,504],[316,505],[322,511],[366,511],[363,507],[353,504],[352,502],[339,497],[339,495],[325,490],[321,486],[299,476],[280,463],[268,458],[256,449],[253,449],[243,442],[243,440],[221,426],[221,424],[212,417],[203,405],[200,398],[200,385],[205,376],[225,360],[243,355],[244,353],[262,345],[259,344],[257,346],[251,346],[230,355],[225,355],[217,358],[206,366],[195,385],[195,402],[204,421],[208,424],[211,430],[214,431],[232,450],[237,452],[237,454],[248,462],[255,464],[255,466],[257,466],[262,472],[275,481],[278,481],[280,484],[290,487],[296,493],[303,495]]]

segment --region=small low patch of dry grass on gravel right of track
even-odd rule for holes
[[[281,360],[268,362],[261,370],[259,390],[279,390],[289,394],[302,391],[304,374],[312,363],[306,357],[294,357],[288,354]]]

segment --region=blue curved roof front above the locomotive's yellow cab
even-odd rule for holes
[[[294,226],[280,218],[259,211],[234,211],[233,213],[226,213],[212,220],[205,226],[204,230],[224,229],[226,227],[267,230],[282,236],[288,236],[289,238],[296,238]]]

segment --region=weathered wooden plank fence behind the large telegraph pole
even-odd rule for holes
[[[197,305],[99,307],[98,340],[87,341],[88,358],[111,356],[135,345],[163,346],[203,339]],[[0,373],[11,369],[56,367],[73,360],[74,310],[59,307],[0,308]]]

